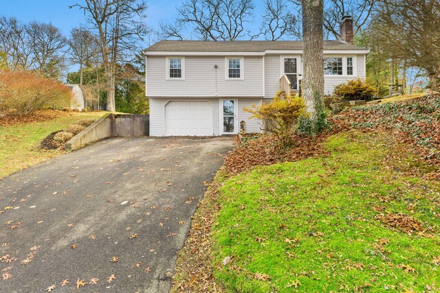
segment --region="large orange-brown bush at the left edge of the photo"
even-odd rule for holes
[[[0,71],[0,111],[30,115],[36,110],[70,106],[72,92],[57,80],[29,71]]]

